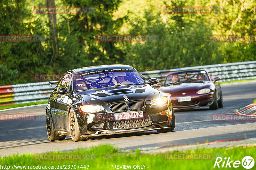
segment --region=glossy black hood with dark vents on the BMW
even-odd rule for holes
[[[147,85],[117,86],[102,89],[90,89],[76,92],[88,104],[108,105],[115,102],[130,102],[133,100],[152,100],[160,96],[160,92]],[[125,101],[124,98],[128,98]]]

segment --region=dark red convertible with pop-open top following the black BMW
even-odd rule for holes
[[[218,109],[223,107],[219,80],[211,80],[205,70],[186,70],[169,74],[164,84],[158,86],[170,96],[175,110],[202,106]]]

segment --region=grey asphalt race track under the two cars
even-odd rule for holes
[[[49,141],[46,134],[45,105],[0,111],[3,114],[35,114],[33,121],[0,120],[0,155],[39,153],[54,150],[69,151],[78,147],[111,144],[121,150],[156,148],[206,141],[256,137],[256,121],[212,121],[212,114],[228,114],[256,98],[256,81],[221,84],[224,107],[218,110],[200,109],[176,111],[176,127],[168,133],[137,132],[90,138],[87,141]]]

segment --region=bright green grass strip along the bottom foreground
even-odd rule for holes
[[[111,165],[146,165],[145,169],[172,169],[172,170],[187,170],[187,169],[215,169],[213,168],[216,155],[220,155],[223,160],[225,157],[230,157],[230,160],[239,160],[245,156],[252,156],[255,159],[256,146],[253,147],[234,147],[234,148],[214,148],[214,149],[196,149],[188,150],[185,153],[211,153],[213,158],[211,160],[164,160],[163,154],[141,154],[140,150],[132,152],[118,152],[118,149],[110,145],[100,145],[91,147],[89,149],[78,149],[68,153],[83,154],[82,160],[65,160],[65,161],[38,161],[34,160],[33,154],[12,155],[7,157],[0,157],[0,165],[11,166],[63,166],[63,165],[89,165],[88,169],[104,170],[113,169]],[[49,152],[49,153],[67,153],[67,152]],[[171,153],[171,152],[169,152]],[[184,153],[184,152],[172,152]],[[90,157],[91,155],[91,157]],[[90,159],[87,159],[90,158]],[[233,162],[234,162],[233,161]],[[222,161],[223,162],[223,161]],[[220,164],[221,165],[221,164]],[[231,166],[233,163],[231,164]],[[252,169],[255,169],[255,166]],[[108,168],[109,167],[109,168]],[[143,167],[143,166],[142,166]],[[233,168],[233,167],[232,167]],[[231,168],[231,169],[232,169]],[[65,169],[65,168],[64,168]],[[68,169],[74,169],[68,168]],[[77,168],[76,169],[81,169]],[[85,168],[83,168],[85,169]],[[87,169],[87,166],[86,166]],[[133,169],[133,168],[131,168]],[[218,168],[217,168],[218,169]],[[222,169],[222,168],[221,168]],[[230,169],[230,168],[229,168]],[[244,169],[240,165],[236,169]]]

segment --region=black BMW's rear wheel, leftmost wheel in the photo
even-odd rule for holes
[[[53,123],[52,123],[52,118],[49,110],[46,111],[46,131],[47,131],[47,136],[49,140],[61,140],[65,139],[66,136],[61,136],[55,134]]]

